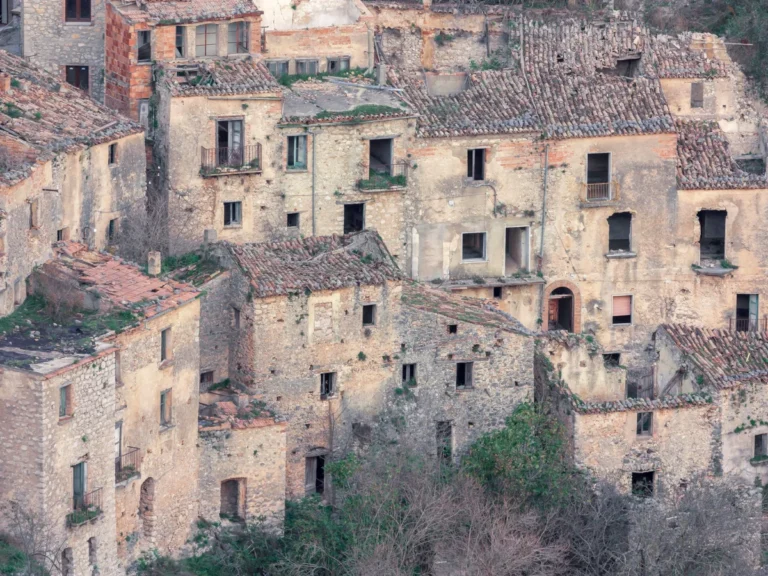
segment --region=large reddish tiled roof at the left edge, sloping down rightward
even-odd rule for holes
[[[12,82],[10,91],[0,93],[0,131],[31,146],[35,154],[30,161],[143,130],[81,90],[5,50],[0,50],[0,73],[8,74]],[[27,168],[0,174],[0,181],[17,181],[25,177]]]

